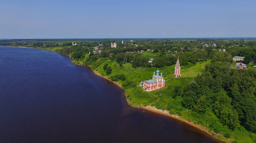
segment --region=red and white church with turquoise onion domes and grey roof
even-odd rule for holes
[[[161,73],[159,76],[159,70],[157,69],[156,75],[155,72],[153,73],[153,79],[145,80],[143,82],[143,88],[146,89],[146,91],[152,91],[159,88],[162,88],[165,86],[165,80],[163,78],[163,74]]]

